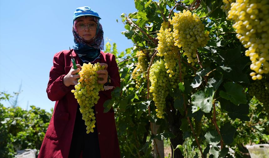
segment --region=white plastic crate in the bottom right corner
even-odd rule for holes
[[[269,144],[246,145],[251,158],[269,158]]]

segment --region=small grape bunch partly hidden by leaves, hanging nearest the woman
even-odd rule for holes
[[[134,71],[132,74],[134,76],[133,78],[135,79],[135,83],[136,83],[135,87],[139,88],[141,86],[141,83],[144,81],[144,79],[147,78],[149,60],[145,52],[143,52],[142,50],[137,51],[136,56],[139,56],[138,63],[136,64],[136,67],[134,68]],[[140,76],[140,74],[143,74],[143,76],[137,77],[137,76]]]

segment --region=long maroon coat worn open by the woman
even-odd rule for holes
[[[79,57],[73,50],[72,55],[76,63],[79,64]],[[100,59],[96,59],[94,62],[108,65],[107,71],[111,78],[109,86],[117,87],[120,85],[119,68],[114,55],[101,51]],[[74,86],[66,87],[63,84],[63,77],[71,67],[69,50],[63,50],[54,55],[47,93],[48,98],[51,101],[56,101],[56,103],[38,158],[68,158],[78,106],[74,93],[71,92]],[[111,109],[108,113],[104,113],[103,107],[104,102],[111,98],[111,91],[100,91],[100,99],[95,105],[99,148],[102,158],[120,157],[114,111]]]

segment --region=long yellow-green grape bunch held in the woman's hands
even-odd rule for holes
[[[104,90],[104,84],[97,83],[98,74],[96,71],[104,70],[105,66],[101,66],[100,63],[96,64],[83,64],[79,71],[80,79],[78,84],[75,85],[75,90],[71,90],[74,93],[75,98],[79,103],[79,110],[82,113],[82,119],[85,121],[87,126],[86,133],[94,132],[95,127],[95,116],[92,107],[97,104],[99,100],[99,91]]]

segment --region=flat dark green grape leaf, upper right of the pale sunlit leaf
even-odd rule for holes
[[[227,82],[224,84],[226,92],[221,91],[220,96],[232,103],[238,105],[246,103],[246,93],[243,92],[243,87],[234,82]]]

